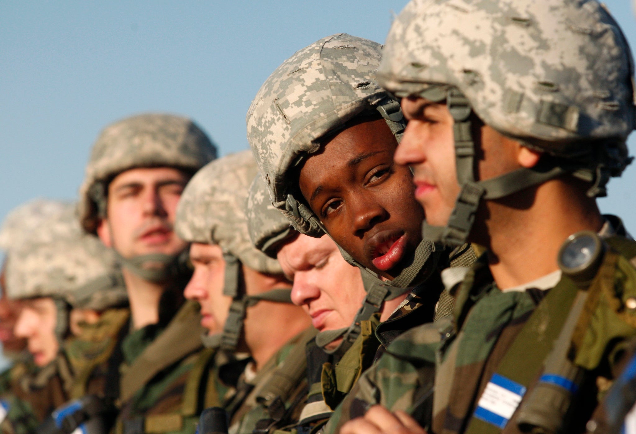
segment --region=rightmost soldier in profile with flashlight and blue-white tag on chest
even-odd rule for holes
[[[403,98],[395,158],[413,166],[424,235],[488,250],[454,276],[448,327],[394,341],[329,431],[373,403],[388,410],[340,432],[594,431],[636,334],[636,243],[595,200],[631,161],[618,24],[595,0],[411,1],[378,80]]]

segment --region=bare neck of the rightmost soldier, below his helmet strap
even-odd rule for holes
[[[599,231],[603,220],[586,188],[555,179],[534,189],[487,203],[485,236],[490,271],[497,287],[517,287],[558,269],[558,250],[573,233]],[[482,229],[482,230],[483,230]]]

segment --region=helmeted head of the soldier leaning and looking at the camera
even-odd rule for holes
[[[431,275],[439,254],[420,242],[424,215],[411,196],[410,172],[392,166],[404,121],[399,104],[373,81],[381,48],[337,34],[296,52],[254,97],[247,139],[274,207],[300,233],[328,233],[347,261],[391,281],[380,296],[388,300]],[[356,206],[329,218],[326,192],[340,188]]]

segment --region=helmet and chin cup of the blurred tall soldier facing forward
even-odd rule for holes
[[[79,221],[95,233],[106,215],[107,188],[119,173],[132,168],[169,166],[195,173],[216,158],[216,147],[190,119],[172,114],[139,114],[115,122],[100,133],[79,189]],[[177,257],[151,254],[134,258],[118,256],[127,269],[146,280],[163,281],[181,272]],[[164,264],[151,269],[147,262]]]

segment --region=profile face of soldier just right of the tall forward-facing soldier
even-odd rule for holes
[[[201,305],[201,325],[210,334],[223,330],[232,298],[223,295],[225,283],[225,260],[218,245],[192,243],[190,262],[194,266],[192,278],[186,285],[186,299]]]

